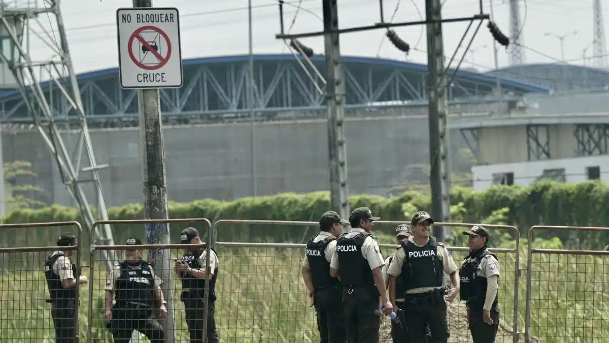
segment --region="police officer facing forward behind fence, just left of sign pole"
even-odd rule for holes
[[[142,250],[136,248],[141,244],[141,240],[129,237],[125,245],[133,245],[133,249],[125,250],[125,260],[115,265],[108,275],[105,319],[114,343],[128,343],[133,330],[143,333],[153,343],[165,339],[163,328],[153,317],[154,300],[161,304],[161,316],[167,314],[162,281],[152,266],[142,259]]]

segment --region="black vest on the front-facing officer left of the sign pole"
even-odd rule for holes
[[[135,264],[122,261],[121,275],[116,278],[116,303],[124,307],[122,303],[132,301],[150,306],[154,305],[154,276],[150,264],[140,261]]]

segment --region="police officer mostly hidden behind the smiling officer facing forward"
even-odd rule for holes
[[[412,236],[412,231],[406,224],[400,224],[395,228],[395,244],[398,246],[401,244],[403,240],[408,239],[408,237]],[[389,265],[393,260],[393,256],[395,256],[395,251],[385,259],[385,265],[382,267],[382,275],[385,280],[385,285],[389,286],[389,274],[387,273],[387,269],[389,269]],[[398,280],[396,283],[396,294],[404,294],[406,290],[404,289],[404,285],[401,283],[401,280]],[[396,298],[395,308],[393,311],[398,312],[398,316],[403,318],[404,316],[404,297],[400,295],[400,297]],[[395,320],[391,321],[391,339],[393,343],[409,343],[410,336],[408,335],[408,330],[406,328],[405,323],[398,323]]]

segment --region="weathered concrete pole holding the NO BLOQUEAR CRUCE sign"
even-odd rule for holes
[[[133,0],[133,7],[152,7],[152,0]],[[143,144],[144,218],[167,219],[167,180],[161,100],[158,88],[138,89],[139,135]],[[146,224],[146,244],[169,244],[169,224]],[[159,318],[165,330],[165,342],[175,342],[174,301],[171,278],[171,251],[149,250],[148,261],[163,280],[161,288],[167,301],[167,317]]]

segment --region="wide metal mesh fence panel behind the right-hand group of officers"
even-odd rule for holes
[[[238,221],[227,221],[234,224]],[[255,225],[257,222],[248,222]],[[259,222],[259,225],[290,225],[288,222]],[[293,226],[315,223],[293,222]],[[393,225],[381,222],[380,225]],[[457,226],[457,225],[456,225]],[[458,226],[470,226],[461,224]],[[492,228],[491,228],[492,229]],[[515,229],[515,228],[514,228]],[[217,228],[221,231],[221,226]],[[222,260],[216,292],[216,320],[220,338],[227,342],[312,342],[319,340],[315,309],[309,306],[302,281],[301,265],[305,244],[217,242]],[[395,251],[395,245],[382,245],[384,258]],[[449,247],[457,267],[468,248]],[[496,342],[513,342],[513,317],[518,278],[516,249],[493,250],[498,255],[501,278],[499,304],[501,323]],[[235,309],[238,309],[236,311]],[[456,300],[448,306],[449,342],[471,342],[466,322],[465,303]],[[381,342],[391,342],[390,320],[381,325]]]

